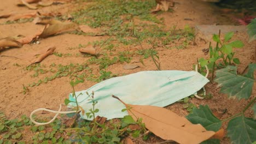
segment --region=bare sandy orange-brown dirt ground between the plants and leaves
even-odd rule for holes
[[[76,3],[66,3],[62,5],[52,5],[37,10],[29,10],[26,7],[17,7],[15,0],[1,1],[0,14],[5,13],[28,13],[33,11],[45,12],[59,12],[61,14],[70,13],[74,7],[78,6]],[[86,4],[86,3],[84,3]],[[159,18],[164,17],[164,23],[166,28],[177,25],[178,28],[183,28],[185,25],[195,27],[196,25],[237,25],[232,19],[230,14],[223,14],[220,8],[213,4],[195,1],[195,0],[179,0],[173,7],[173,13],[161,13]],[[184,20],[189,19],[189,20]],[[4,23],[6,19],[0,19],[0,23]],[[41,29],[42,26],[35,25],[32,22],[26,23],[13,23],[13,24],[1,24],[0,25],[0,38],[11,37],[14,35],[30,35]],[[39,79],[43,79],[47,74],[39,75],[38,77],[32,77],[33,71],[25,70],[27,62],[21,61],[21,59],[6,56],[23,55],[27,52],[37,51],[48,46],[56,46],[55,52],[59,53],[71,53],[70,57],[57,57],[55,55],[45,58],[41,65],[62,64],[69,63],[82,64],[90,57],[78,56],[75,57],[78,49],[70,49],[70,47],[77,47],[79,44],[86,45],[91,41],[107,39],[106,36],[94,37],[63,33],[41,39],[40,44],[26,44],[21,48],[12,48],[0,52],[0,111],[6,113],[9,118],[18,118],[21,115],[30,115],[30,112],[40,107],[46,107],[48,109],[57,110],[60,104],[64,103],[64,99],[68,98],[68,94],[72,92],[72,87],[69,85],[69,77],[57,78],[47,83],[42,83],[36,87],[28,87],[28,92],[23,94],[22,85],[28,85],[28,83],[36,82]],[[202,40],[204,39],[204,40]],[[248,43],[248,35],[246,32],[236,32],[234,40],[242,40],[245,46],[242,49],[236,49],[236,57],[240,59],[241,64],[238,67],[238,72],[242,72],[246,68],[246,65],[254,61],[254,47],[255,42]],[[203,54],[202,49],[208,47],[209,39],[205,39],[203,35],[196,37],[196,45],[189,45],[185,49],[165,49],[164,47],[157,48],[159,52],[161,69],[162,70],[193,70],[193,64],[196,63],[197,58],[207,57]],[[144,45],[143,45],[144,46]],[[145,45],[147,46],[147,45]],[[120,48],[122,49],[122,48]],[[133,47],[123,48],[126,50],[133,50]],[[146,66],[138,62],[136,57],[133,58],[140,67],[133,70],[123,69],[121,63],[110,65],[107,70],[112,71],[113,74],[132,74],[137,71],[144,70],[156,70],[156,67],[151,59],[145,59]],[[15,64],[19,64],[18,67]],[[95,73],[98,73],[95,70]],[[86,81],[75,86],[75,91],[82,91],[87,89],[96,82]],[[256,95],[256,89],[254,88],[252,95]],[[222,111],[227,109],[228,111],[221,117],[227,118],[234,115],[238,111],[241,111],[247,104],[247,101],[229,100],[226,95],[219,93],[216,83],[208,83],[206,85],[206,92],[213,95],[212,99],[199,100],[192,99],[191,103],[195,105],[209,105],[212,110]],[[180,116],[188,114],[183,109],[181,103],[175,103],[167,106],[167,109],[173,110]],[[248,115],[251,115],[248,112]],[[223,125],[226,128],[226,124]],[[228,138],[224,138],[222,143],[229,143]]]

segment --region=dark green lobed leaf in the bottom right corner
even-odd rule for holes
[[[228,137],[232,143],[253,143],[256,141],[256,121],[239,116],[228,123]]]

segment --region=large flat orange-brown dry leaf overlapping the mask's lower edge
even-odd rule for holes
[[[118,97],[112,97],[120,100]],[[121,100],[120,100],[121,101]],[[130,105],[123,103],[129,115],[137,121],[142,118],[146,128],[164,140],[174,140],[178,143],[197,144],[212,137],[214,131],[207,131],[201,124],[192,124],[188,119],[163,107],[149,105]]]

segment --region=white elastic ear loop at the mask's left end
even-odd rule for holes
[[[56,115],[54,116],[54,118],[53,119],[51,119],[51,121],[49,121],[49,122],[46,122],[46,123],[38,123],[38,122],[36,122],[36,121],[34,121],[34,119],[33,119],[33,114],[35,113],[35,112],[38,112],[38,111],[49,111],[49,112],[52,112],[52,113],[56,113]],[[68,113],[76,113],[77,111],[61,111],[61,104],[60,104],[60,108],[59,108],[59,110],[58,111],[53,111],[53,110],[49,110],[49,109],[45,109],[45,108],[39,108],[39,109],[36,109],[36,110],[34,110],[34,111],[32,111],[31,112],[31,114],[30,114],[30,120],[31,120],[31,122],[33,122],[34,124],[37,124],[37,125],[45,125],[45,124],[50,124],[50,123],[52,123],[52,122],[54,122],[54,120],[56,119],[56,117],[61,113],[61,114],[68,114]]]

